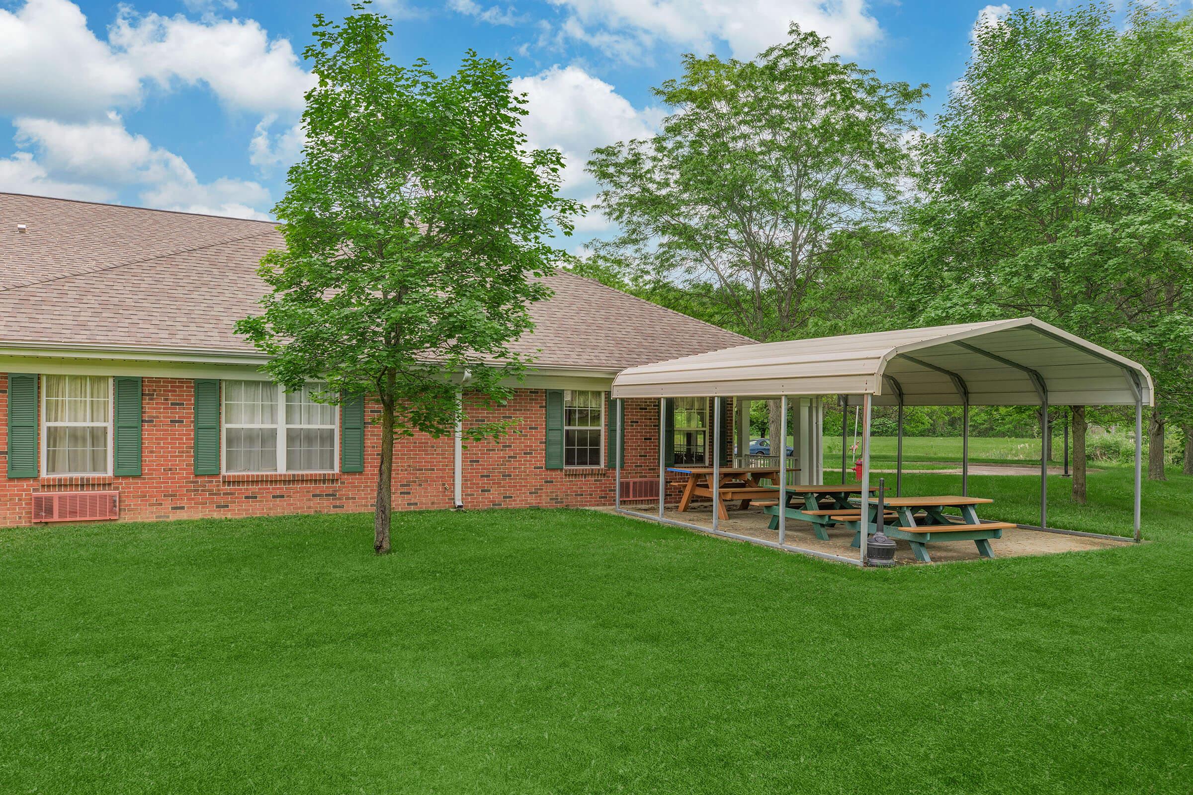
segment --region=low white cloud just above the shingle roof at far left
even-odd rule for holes
[[[0,161],[17,163],[10,167],[17,172],[8,175],[12,181],[32,178],[35,184],[66,186],[62,190],[75,191],[75,198],[91,191],[103,199],[111,199],[112,187],[128,186],[140,188],[140,200],[149,207],[268,217],[256,210],[270,201],[266,188],[228,178],[200,182],[185,160],[152,145],[144,136],[130,133],[115,113],[104,120],[82,123],[19,118],[13,124],[18,144],[35,149],[37,157],[20,151],[10,161]],[[0,187],[16,190],[4,172]]]

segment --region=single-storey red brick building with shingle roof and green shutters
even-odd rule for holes
[[[0,193],[0,527],[372,509],[376,408],[315,403],[317,384],[285,393],[233,331],[282,244],[265,222]],[[398,440],[395,509],[610,504],[613,377],[750,342],[588,279],[548,281],[515,346],[534,369],[494,412],[514,431]],[[657,478],[659,403],[624,411],[623,479]],[[667,454],[711,462],[709,402],[667,415]]]

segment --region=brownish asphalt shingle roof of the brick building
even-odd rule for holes
[[[258,262],[282,246],[268,222],[0,193],[0,343],[252,352],[233,323],[258,311]],[[622,369],[752,342],[591,279],[546,282],[513,346],[539,365]]]

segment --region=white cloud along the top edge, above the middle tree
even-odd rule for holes
[[[564,32],[612,56],[641,56],[654,44],[709,50],[729,45],[734,57],[753,58],[783,41],[796,21],[829,37],[841,55],[857,55],[882,30],[866,0],[551,0],[568,10]]]

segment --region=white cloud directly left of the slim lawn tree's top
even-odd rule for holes
[[[314,76],[290,42],[270,39],[255,20],[183,15],[134,17],[122,10],[109,41],[137,74],[169,87],[205,83],[227,105],[268,113],[296,111]]]

